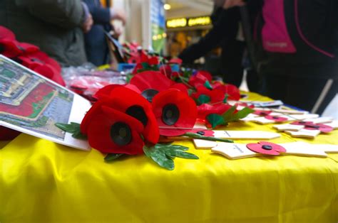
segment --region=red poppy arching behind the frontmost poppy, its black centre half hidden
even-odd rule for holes
[[[85,134],[87,131],[88,120],[91,116],[95,116],[96,108],[111,107],[129,116],[135,117],[144,125],[142,132],[145,140],[150,143],[158,143],[160,137],[158,124],[152,112],[151,104],[137,92],[126,87],[114,87],[108,96],[103,95],[90,109],[81,123],[81,132]]]

